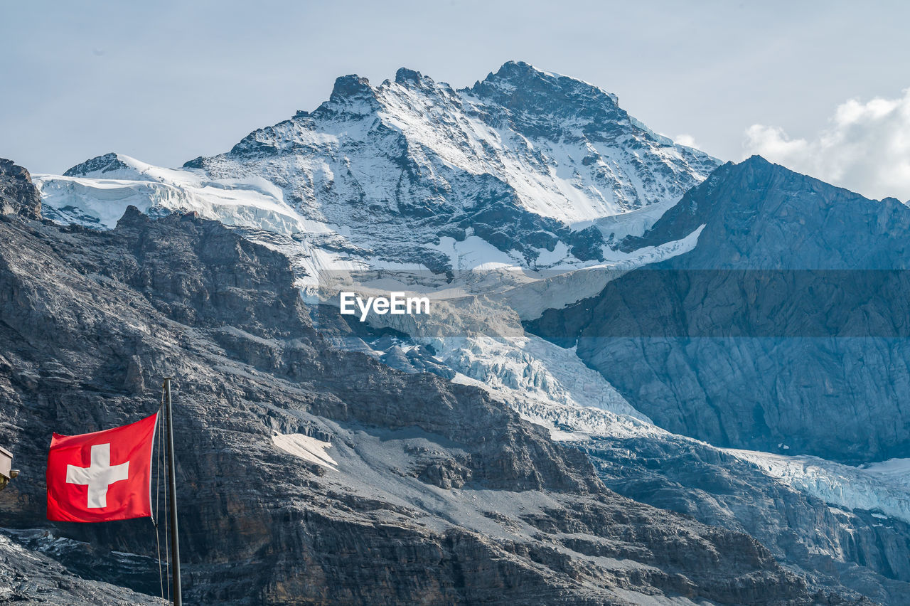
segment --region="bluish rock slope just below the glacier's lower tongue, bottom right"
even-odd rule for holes
[[[883,604],[910,604],[905,520],[877,509],[834,506],[703,442],[607,436],[584,448],[598,476],[623,496],[746,532],[819,584],[846,586]],[[875,499],[872,490],[868,496]]]

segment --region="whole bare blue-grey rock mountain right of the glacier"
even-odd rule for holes
[[[622,246],[700,225],[691,251],[529,327],[577,343],[673,432],[855,463],[910,456],[910,208],[753,157]]]

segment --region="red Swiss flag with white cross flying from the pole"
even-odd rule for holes
[[[51,438],[47,519],[108,521],[152,515],[152,446],[157,413],[79,436]]]

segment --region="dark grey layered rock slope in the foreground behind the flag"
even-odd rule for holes
[[[0,218],[0,442],[22,469],[0,509],[88,541],[14,535],[83,577],[157,592],[153,534],[46,522],[50,433],[147,415],[173,376],[188,603],[843,603],[746,535],[606,490],[581,450],[477,389],[329,348],[288,260],[226,227]],[[329,442],[334,464],[277,434]],[[105,550],[137,557],[86,565]]]

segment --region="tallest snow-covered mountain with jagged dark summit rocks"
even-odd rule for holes
[[[404,68],[379,86],[342,76],[315,111],[226,154],[176,170],[107,154],[36,182],[64,221],[112,227],[128,201],[442,271],[478,247],[520,267],[602,260],[617,230],[598,219],[672,204],[719,164],[597,86],[510,62],[460,90]]]

